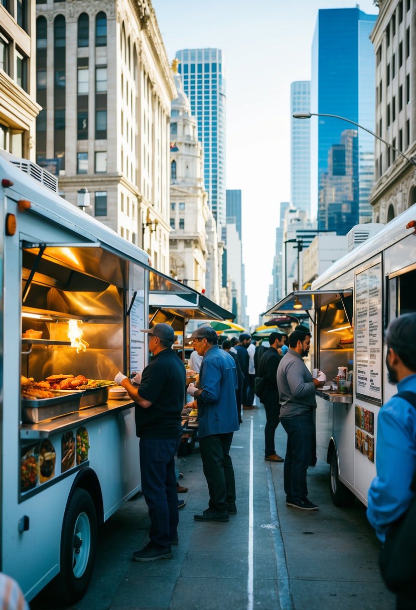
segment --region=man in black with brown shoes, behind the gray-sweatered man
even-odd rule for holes
[[[279,348],[284,345],[285,335],[274,331],[268,338],[270,348],[263,354],[259,363],[258,377],[266,378],[266,387],[260,400],[264,404],[266,425],[264,428],[264,459],[267,462],[283,462],[284,459],[276,454],[274,448],[274,434],[279,425],[280,403],[278,390],[278,367],[282,360]]]

